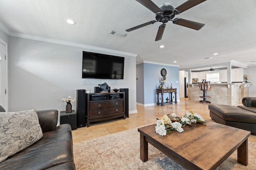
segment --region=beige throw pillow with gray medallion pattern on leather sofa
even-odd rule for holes
[[[43,137],[35,109],[0,112],[0,162]]]

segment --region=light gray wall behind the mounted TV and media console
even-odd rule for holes
[[[82,79],[82,51],[100,51],[18,37],[9,37],[8,48],[9,111],[64,111],[61,98],[106,82],[111,89],[129,88],[129,111],[136,112],[136,57],[118,55],[125,57],[124,80]]]

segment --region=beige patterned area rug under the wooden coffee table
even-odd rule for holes
[[[237,162],[237,151],[217,170],[256,170],[256,143],[249,141],[249,164]],[[210,154],[210,153],[209,153]],[[74,144],[77,170],[184,170],[182,166],[148,144],[148,161],[140,160],[138,128]]]

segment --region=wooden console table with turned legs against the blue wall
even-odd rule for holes
[[[164,102],[164,93],[169,93],[170,94],[170,101],[167,100],[167,102]],[[172,104],[175,103],[177,104],[177,89],[176,88],[161,88],[161,89],[156,89],[156,94],[157,94],[157,105],[164,106],[164,104]],[[161,103],[159,103],[159,94],[161,94]],[[172,98],[175,98],[173,100]]]

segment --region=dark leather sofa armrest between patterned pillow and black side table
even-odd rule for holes
[[[43,133],[57,129],[58,110],[39,110],[36,113]]]

